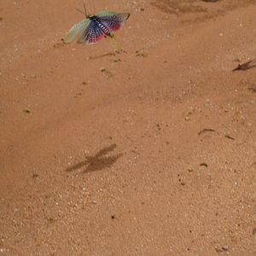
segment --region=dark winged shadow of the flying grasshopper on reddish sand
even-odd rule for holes
[[[101,171],[105,168],[109,168],[113,166],[113,164],[119,160],[123,154],[116,154],[113,156],[108,156],[107,154],[111,151],[113,151],[114,148],[116,148],[116,144],[112,144],[106,148],[102,148],[100,151],[98,151],[95,155],[88,155],[85,157],[85,160],[82,162],[79,162],[78,164],[74,166],[68,167],[65,172],[73,172],[75,170],[79,170],[80,168],[85,168],[83,173],[88,172],[95,172],[95,171]]]

